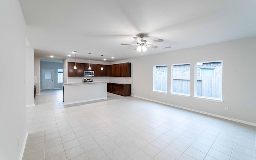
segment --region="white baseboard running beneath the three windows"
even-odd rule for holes
[[[248,124],[248,125],[251,125],[251,126],[256,126],[256,123],[247,122],[247,121],[244,121],[244,120],[238,120],[238,119],[235,119],[235,118],[230,118],[230,117],[226,117],[226,116],[220,116],[218,114],[212,114],[212,113],[209,113],[209,112],[203,112],[203,111],[200,111],[200,110],[194,110],[194,109],[191,109],[191,108],[182,107],[182,106],[178,106],[178,105],[170,104],[170,103],[165,103],[165,102],[160,102],[160,101],[157,101],[157,100],[152,100],[152,99],[144,98],[144,97],[140,97],[140,96],[134,96],[134,97],[140,98],[140,99],[144,99],[144,100],[149,100],[149,101],[152,101],[152,102],[157,102],[157,103],[165,104],[165,105],[168,105],[168,106],[173,106],[173,107],[176,107],[176,108],[182,108],[184,110],[190,110],[190,111],[193,111],[193,112],[207,114],[207,115],[210,115],[210,116],[214,116],[214,117],[218,117],[218,118],[222,118],[222,119],[226,119],[226,120],[231,120],[231,121],[234,121],[234,122],[240,122],[240,123],[243,123],[243,124]]]

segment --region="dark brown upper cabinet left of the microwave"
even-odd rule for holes
[[[69,77],[83,77],[84,76],[84,64],[76,63],[76,70],[74,69],[75,63],[68,62],[68,76]]]

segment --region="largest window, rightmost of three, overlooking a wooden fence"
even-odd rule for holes
[[[222,61],[196,63],[195,96],[222,100]]]

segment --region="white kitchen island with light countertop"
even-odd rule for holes
[[[74,104],[107,98],[107,82],[64,83],[63,102]]]

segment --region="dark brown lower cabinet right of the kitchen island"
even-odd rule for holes
[[[130,96],[131,84],[108,83],[107,92],[118,94],[121,96]]]

